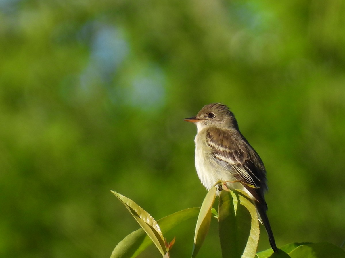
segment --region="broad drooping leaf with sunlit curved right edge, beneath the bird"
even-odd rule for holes
[[[259,223],[255,205],[242,191],[221,191],[219,237],[223,257],[255,257]]]

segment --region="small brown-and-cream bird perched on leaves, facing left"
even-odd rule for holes
[[[259,221],[265,226],[270,246],[277,252],[266,214],[266,169],[259,154],[240,132],[234,113],[226,105],[213,103],[184,121],[197,126],[195,166],[201,183],[207,190],[218,182],[225,182],[228,189],[246,192],[257,209]],[[217,195],[221,190],[218,186]]]

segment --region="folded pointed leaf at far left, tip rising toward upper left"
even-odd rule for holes
[[[130,198],[114,191],[111,192],[126,206],[142,229],[144,229],[146,234],[151,238],[162,256],[164,256],[167,252],[164,237],[155,219]]]

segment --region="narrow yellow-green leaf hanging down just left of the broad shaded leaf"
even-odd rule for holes
[[[211,223],[211,208],[216,198],[217,187],[213,186],[206,194],[203,204],[201,205],[198,220],[195,227],[194,245],[192,257],[196,257],[201,245],[205,240]]]

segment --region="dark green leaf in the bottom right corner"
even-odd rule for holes
[[[344,258],[345,251],[331,243],[313,243],[301,245],[289,252],[291,258]]]

